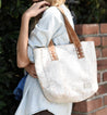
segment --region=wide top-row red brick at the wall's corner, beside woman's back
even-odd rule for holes
[[[99,26],[98,24],[80,24],[75,25],[75,31],[78,35],[99,34]]]

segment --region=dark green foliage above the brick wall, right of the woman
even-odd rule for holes
[[[71,4],[75,12],[76,23],[107,23],[107,0],[79,0],[79,4]]]

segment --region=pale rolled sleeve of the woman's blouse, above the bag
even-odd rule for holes
[[[47,10],[39,22],[35,25],[28,39],[28,58],[34,63],[33,49],[36,47],[47,47],[54,34],[61,26],[60,17]]]

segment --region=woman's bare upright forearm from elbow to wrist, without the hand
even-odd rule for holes
[[[27,56],[28,23],[29,17],[26,14],[23,14],[16,46],[19,67],[25,67],[26,65],[29,64],[29,60]]]

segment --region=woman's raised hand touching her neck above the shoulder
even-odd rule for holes
[[[49,7],[49,3],[47,1],[33,3],[33,5],[25,11],[24,15],[27,15],[28,18],[37,16],[39,13],[44,12],[47,9],[47,7]]]

